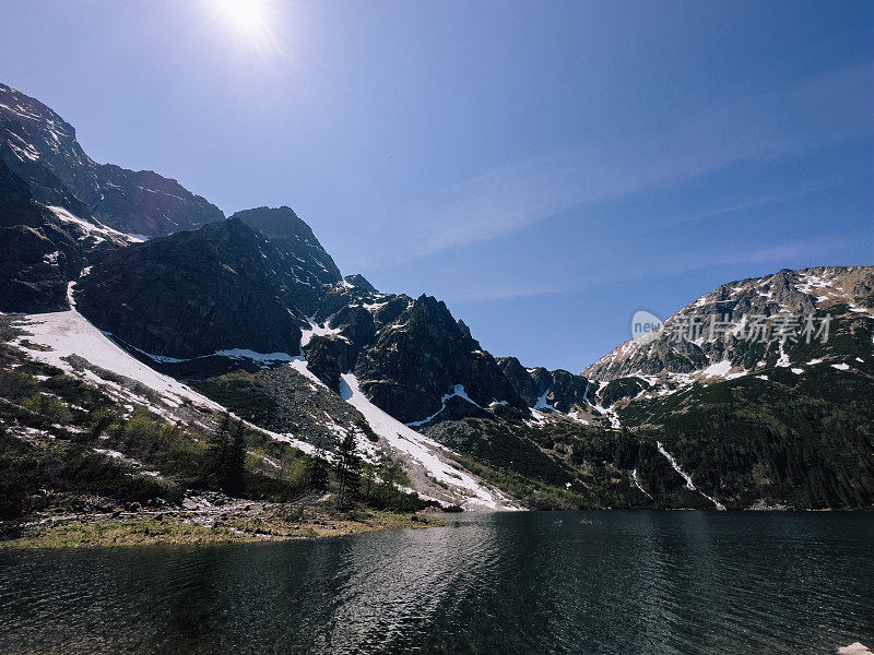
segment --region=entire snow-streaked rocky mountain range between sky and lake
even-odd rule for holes
[[[0,310],[27,314],[7,347],[177,425],[229,409],[304,450],[352,431],[471,508],[874,504],[872,266],[725,284],[581,373],[525,368],[433,297],[343,277],[291,209],[225,218],[98,165],[4,85],[0,231]]]

